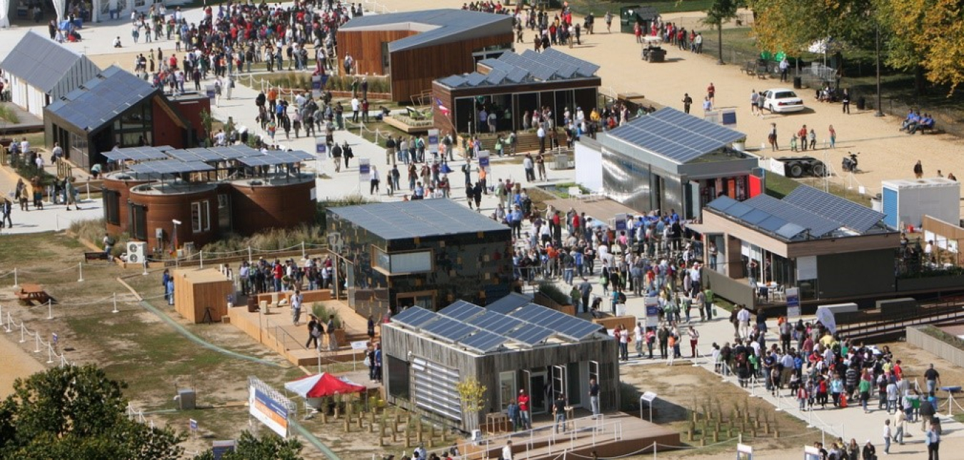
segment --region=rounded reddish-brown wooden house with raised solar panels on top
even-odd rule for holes
[[[305,151],[243,144],[109,149],[104,220],[111,234],[147,242],[149,254],[201,249],[223,235],[252,235],[314,222],[314,176],[300,172]],[[190,252],[190,251],[189,251]]]

